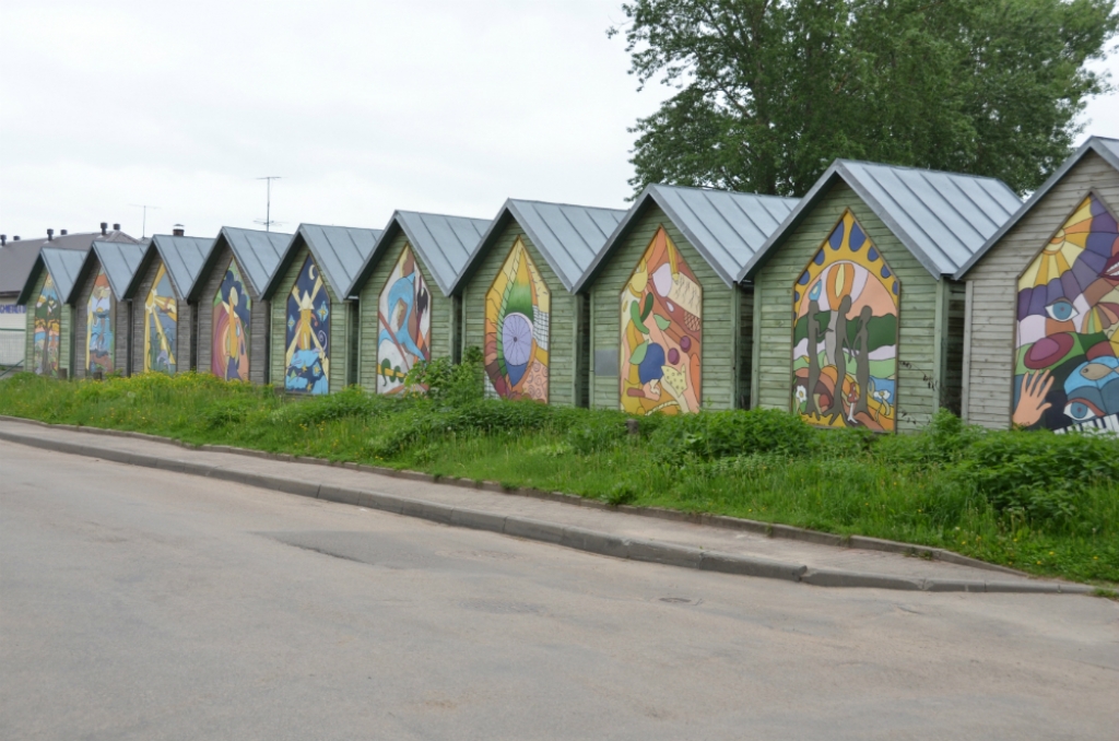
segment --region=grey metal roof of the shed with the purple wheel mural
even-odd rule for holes
[[[514,219],[520,225],[536,248],[568,291],[574,291],[583,273],[618,228],[626,212],[617,208],[594,208],[568,204],[547,204],[538,200],[510,198],[501,206],[490,223],[473,254],[467,261],[452,292],[478,269],[482,255]]]

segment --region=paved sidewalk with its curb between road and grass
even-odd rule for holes
[[[0,440],[236,480],[288,494],[365,505],[452,525],[504,532],[580,550],[826,587],[933,591],[1061,591],[1088,588],[899,553],[769,537],[613,509],[498,491],[0,420]],[[3,453],[18,448],[3,444]],[[417,477],[419,478],[419,477]],[[426,508],[424,505],[429,505]],[[726,556],[726,557],[723,557]],[[744,564],[744,565],[743,565]]]

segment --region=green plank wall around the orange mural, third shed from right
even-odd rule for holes
[[[600,376],[594,372],[596,350],[621,354],[621,293],[657,228],[664,226],[684,261],[703,287],[703,357],[700,358],[699,392],[703,407],[726,410],[737,406],[741,383],[742,341],[740,326],[743,312],[741,290],[730,288],[704,260],[687,237],[676,228],[659,206],[650,203],[631,223],[626,235],[614,246],[594,281],[591,297],[590,395],[595,409],[621,409],[621,382],[615,375]],[[747,386],[749,387],[749,386]]]

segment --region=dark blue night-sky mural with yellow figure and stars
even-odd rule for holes
[[[330,297],[310,256],[288,296],[284,388],[302,394],[330,391]]]

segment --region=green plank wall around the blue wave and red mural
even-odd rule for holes
[[[406,245],[408,245],[407,236],[403,232],[398,232],[377,259],[377,264],[374,266],[369,280],[361,287],[361,339],[359,344],[361,357],[358,360],[358,383],[370,392],[377,390],[377,363],[379,362],[377,357],[377,310],[380,304],[380,292],[385,289],[385,281],[396,268],[396,262],[401,259],[401,253]],[[412,248],[412,254],[415,256],[420,274],[427,283],[427,291],[431,294],[431,357],[433,359],[453,357],[453,302],[450,297],[443,296],[415,247]]]

